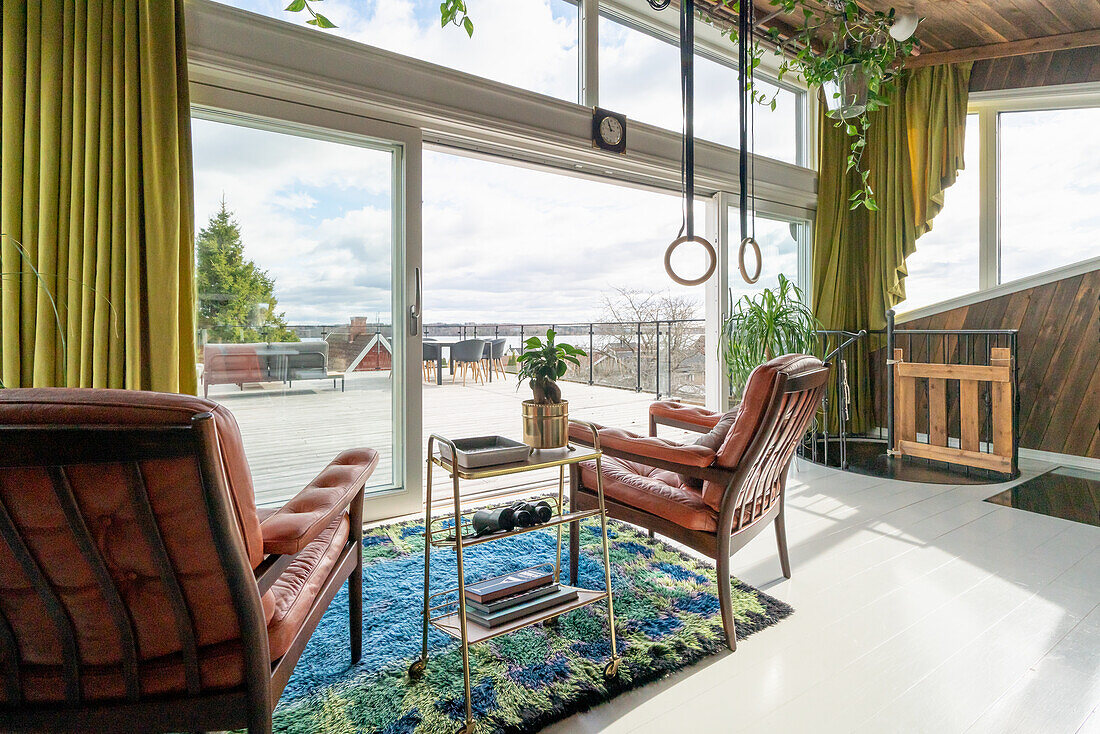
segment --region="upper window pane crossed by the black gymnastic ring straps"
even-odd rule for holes
[[[730,53],[736,48],[730,44]],[[755,150],[787,163],[800,161],[801,95],[758,78],[776,110],[756,105]],[[683,129],[680,50],[664,39],[600,19],[600,106],[668,130]],[[739,147],[737,69],[695,54],[695,136]]]

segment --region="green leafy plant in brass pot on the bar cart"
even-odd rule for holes
[[[532,397],[524,401],[524,442],[535,449],[558,449],[569,443],[569,401],[561,399],[558,379],[565,375],[570,364],[581,365],[580,357],[587,357],[583,349],[565,342],[558,343],[558,335],[547,329],[546,341],[531,337],[524,342],[518,358],[519,380],[526,377]]]

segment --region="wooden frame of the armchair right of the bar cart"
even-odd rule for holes
[[[676,523],[605,496],[608,517],[638,525],[681,543],[715,559],[718,573],[718,603],[726,640],[730,650],[737,649],[737,628],[734,621],[730,591],[730,557],[759,535],[769,523],[774,523],[779,562],[785,578],[791,578],[791,563],[787,548],[787,525],[783,513],[787,471],[793,449],[816,413],[829,368],[789,376],[780,372],[765,408],[765,417],[748,445],[741,460],[732,469],[712,464],[692,467],[667,459],[634,453],[619,448],[603,447],[604,456],[664,469],[725,487],[718,511],[717,530],[707,533],[685,528]],[[715,420],[716,423],[716,420]],[[650,436],[657,435],[658,425],[706,432],[710,427],[698,423],[650,413]],[[570,468],[570,507],[587,510],[592,495],[582,484],[581,472]],[[570,578],[575,583],[580,535],[570,528]]]

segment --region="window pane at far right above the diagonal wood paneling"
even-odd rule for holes
[[[1100,256],[1100,108],[999,118],[1001,282]]]

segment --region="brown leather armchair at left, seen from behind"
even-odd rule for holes
[[[216,403],[0,391],[0,730],[271,732],[345,580],[360,657],[377,462],[344,451],[257,513],[237,421]]]

